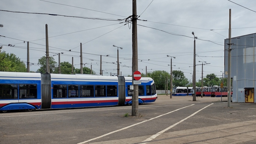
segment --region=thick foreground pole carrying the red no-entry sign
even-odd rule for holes
[[[138,41],[137,41],[137,2],[133,0],[133,16],[132,16],[132,74],[138,71]],[[132,79],[134,81],[134,77]],[[131,104],[131,115],[138,116],[139,113],[139,92],[138,85],[133,84],[133,96]]]

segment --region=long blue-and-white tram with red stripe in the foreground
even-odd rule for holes
[[[154,80],[142,77],[139,103],[157,99]],[[131,104],[132,77],[0,72],[0,111]]]

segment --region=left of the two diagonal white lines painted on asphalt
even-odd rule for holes
[[[194,105],[194,104],[192,104],[192,105]],[[189,106],[192,106],[192,105],[189,105]],[[185,106],[185,107],[183,107],[183,108],[186,108],[186,107],[189,107],[189,106]],[[137,123],[137,124],[133,124],[133,125],[130,125],[130,126],[127,126],[127,127],[123,127],[122,129],[119,129],[119,130],[111,131],[110,133],[103,134],[103,135],[101,135],[101,136],[99,136],[99,137],[92,138],[92,139],[89,139],[89,140],[87,140],[87,141],[80,142],[80,143],[77,143],[77,144],[83,144],[83,143],[87,143],[87,142],[93,141],[93,140],[95,140],[95,139],[99,139],[99,138],[105,137],[105,136],[110,135],[110,134],[113,134],[113,133],[115,133],[115,132],[118,132],[118,131],[121,131],[121,130],[128,129],[128,128],[133,127],[133,126],[135,126],[135,125],[142,124],[142,123],[144,123],[144,122],[147,122],[147,121],[153,120],[153,119],[155,119],[155,118],[158,118],[158,117],[164,116],[164,115],[166,115],[166,114],[169,114],[169,113],[175,112],[175,111],[180,110],[180,109],[183,109],[183,108],[179,108],[179,109],[173,110],[173,111],[171,111],[171,112],[168,112],[168,113],[165,113],[165,114],[159,115],[159,116],[157,116],[157,117],[150,118],[149,120],[145,120],[145,121],[139,122],[139,123]]]

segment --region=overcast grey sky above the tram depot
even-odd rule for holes
[[[214,73],[222,77],[229,9],[231,37],[256,32],[256,2],[231,1],[137,0],[137,15],[140,16],[137,21],[139,71],[145,73],[147,66],[148,72],[170,72],[170,57],[166,56],[170,55],[176,57],[172,59],[175,65],[173,70],[183,71],[192,81],[190,73],[193,73],[193,31],[198,37],[196,64],[202,64],[198,61],[210,63],[204,65],[203,76]],[[80,68],[82,43],[84,66],[90,68],[92,65],[96,74],[99,74],[102,55],[103,75],[117,73],[117,47],[113,47],[115,45],[123,48],[119,49],[122,76],[132,73],[131,23],[118,21],[132,15],[132,0],[1,0],[0,10],[0,24],[3,24],[0,27],[2,51],[15,54],[26,63],[26,42],[29,41],[30,63],[33,63],[30,66],[31,71],[37,71],[40,67],[37,65],[38,59],[45,56],[47,24],[50,56],[56,62],[57,54],[63,53],[60,55],[61,62],[72,63],[74,57],[74,67]],[[8,44],[15,46],[10,47]],[[202,67],[198,65],[197,80],[201,79],[201,73]]]

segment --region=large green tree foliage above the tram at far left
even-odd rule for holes
[[[27,72],[25,63],[14,54],[0,52],[0,71],[2,72]]]

